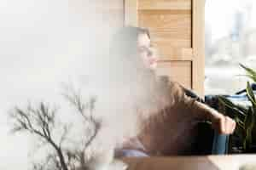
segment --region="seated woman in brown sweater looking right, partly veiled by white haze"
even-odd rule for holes
[[[122,149],[143,150],[150,156],[186,153],[193,143],[195,124],[200,121],[212,122],[218,133],[234,132],[236,122],[230,117],[190,98],[177,82],[155,77],[157,57],[148,30],[122,28],[113,38],[110,54],[118,60],[113,71],[115,82],[130,86],[135,89],[134,94],[139,94],[136,100],[141,131]]]

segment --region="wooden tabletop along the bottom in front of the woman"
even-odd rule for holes
[[[123,161],[128,170],[239,170],[246,163],[256,165],[256,155],[134,157]]]

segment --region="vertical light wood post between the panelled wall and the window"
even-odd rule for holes
[[[205,0],[193,0],[193,60],[192,87],[197,94],[204,96],[205,79]]]

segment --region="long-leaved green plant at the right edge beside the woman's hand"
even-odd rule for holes
[[[245,65],[241,67],[246,76],[256,82],[256,71]],[[256,96],[250,82],[247,82],[246,94],[249,105],[234,104],[230,99],[218,96],[219,110],[236,121],[235,133],[230,136],[230,153],[256,153]]]

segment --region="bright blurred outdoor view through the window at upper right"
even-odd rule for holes
[[[206,94],[235,94],[247,78],[239,63],[256,69],[256,2],[206,1]]]

